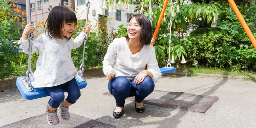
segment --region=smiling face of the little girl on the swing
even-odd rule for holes
[[[61,38],[65,38],[66,37],[71,37],[72,34],[75,32],[76,30],[76,23],[65,23],[63,28],[62,28],[62,36]]]

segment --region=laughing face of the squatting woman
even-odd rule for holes
[[[141,39],[141,26],[134,17],[127,26],[127,33],[130,39]]]

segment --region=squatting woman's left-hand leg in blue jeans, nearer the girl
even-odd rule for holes
[[[108,82],[108,90],[116,99],[117,107],[124,107],[125,99],[129,97],[131,82],[124,76],[118,76]]]

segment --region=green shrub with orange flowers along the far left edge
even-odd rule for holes
[[[10,1],[0,1],[0,79],[4,79],[5,76],[9,76],[15,68],[12,67],[12,63],[19,63],[19,56],[16,52],[18,48],[17,43],[14,41],[20,38],[22,26],[24,20],[21,19],[21,15],[26,13],[16,7],[16,4],[9,4]],[[21,15],[19,13],[21,12]]]

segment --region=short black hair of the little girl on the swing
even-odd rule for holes
[[[63,25],[65,23],[77,23],[77,18],[76,14],[70,8],[66,6],[55,6],[50,11],[45,24],[46,23],[46,35],[50,38],[54,37],[61,39],[61,37],[63,36]],[[72,37],[72,35],[69,38],[66,38],[69,40]]]

